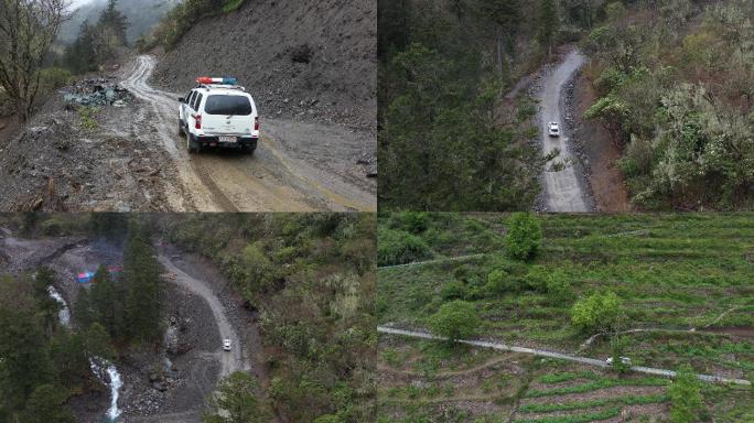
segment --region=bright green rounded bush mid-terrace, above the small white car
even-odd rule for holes
[[[583,332],[608,332],[617,326],[621,299],[614,292],[595,293],[579,300],[571,310],[571,323]]]

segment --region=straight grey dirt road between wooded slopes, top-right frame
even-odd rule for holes
[[[542,153],[550,154],[556,149],[560,156],[556,163],[562,164],[557,170],[548,167],[542,177],[545,188],[545,206],[547,212],[591,212],[588,193],[584,189],[583,175],[573,165],[574,158],[569,145],[569,133],[566,128],[563,87],[585,62],[585,57],[578,51],[571,51],[552,73],[545,76],[542,89],[539,93],[540,123],[542,127]],[[558,122],[561,137],[549,137],[548,122]]]

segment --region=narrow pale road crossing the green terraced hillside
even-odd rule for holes
[[[427,332],[403,330],[403,329],[396,329],[396,328],[387,327],[387,326],[377,326],[377,332],[379,332],[381,334],[407,336],[407,337],[411,337],[411,338],[448,340],[448,338],[445,338],[445,337],[432,335],[432,334],[429,334]],[[457,343],[459,344],[466,344],[466,345],[471,345],[471,346],[475,346],[475,347],[482,347],[482,348],[492,348],[492,349],[496,349],[498,351],[532,354],[532,355],[539,356],[539,357],[557,358],[559,360],[574,361],[574,362],[580,362],[583,365],[596,366],[596,367],[602,367],[602,368],[610,367],[610,365],[607,365],[604,360],[597,360],[597,359],[588,358],[588,357],[578,357],[578,356],[573,356],[573,355],[566,354],[566,352],[556,352],[556,351],[548,351],[548,350],[543,350],[543,349],[516,347],[516,346],[509,346],[509,345],[505,345],[505,344],[487,343],[484,340],[457,340]],[[676,377],[676,372],[672,370],[656,369],[653,367],[632,366],[631,370],[639,372],[639,373],[661,376],[661,377],[666,377],[666,378],[675,378]],[[742,386],[751,386],[752,384],[748,380],[730,379],[730,378],[723,378],[721,376],[698,375],[698,377],[700,380],[703,380],[703,381],[710,382],[710,383],[733,383],[733,384],[742,384]]]

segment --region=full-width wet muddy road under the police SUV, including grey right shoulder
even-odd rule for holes
[[[180,186],[168,187],[171,209],[376,210],[374,182],[343,171],[346,164],[333,164],[338,149],[347,148],[353,138],[344,128],[274,120],[262,115],[262,138],[254,155],[234,151],[190,155],[185,138],[177,132],[176,99],[181,95],[148,84],[155,64],[152,56],[139,56],[125,68],[122,86],[146,107],[138,108],[122,128],[110,129],[125,137],[147,138],[165,149],[181,180]]]

